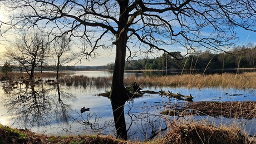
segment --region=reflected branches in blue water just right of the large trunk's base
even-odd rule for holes
[[[130,104],[127,103],[126,108],[128,108],[126,121],[129,127],[127,129],[129,139],[151,140],[165,135],[168,129],[167,117],[151,111],[149,107],[147,107],[148,110],[143,112],[132,111],[136,109],[132,102]]]

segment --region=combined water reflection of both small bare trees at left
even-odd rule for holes
[[[56,96],[51,93],[55,88],[45,88],[41,82],[9,93],[5,106],[8,113],[16,118],[14,122],[21,127],[46,126],[54,121],[68,122],[71,108],[63,100],[75,100],[75,97],[61,91],[57,85],[56,101]]]

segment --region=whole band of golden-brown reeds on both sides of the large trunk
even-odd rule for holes
[[[3,73],[0,73],[0,77]],[[28,78],[27,73],[12,72],[10,78]],[[55,78],[54,72],[36,72],[35,79]],[[241,74],[223,73],[213,75],[174,75],[174,76],[129,76],[124,78],[124,85],[131,86],[137,82],[141,87],[188,87],[188,88],[204,88],[204,87],[223,87],[223,88],[256,88],[256,72],[244,72]],[[60,83],[67,86],[82,86],[98,88],[110,87],[112,77],[87,77],[72,76],[72,73],[60,73]]]

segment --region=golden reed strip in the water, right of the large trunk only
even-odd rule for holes
[[[239,75],[232,73],[213,75],[175,75],[152,77],[127,77],[125,85],[129,86],[137,82],[142,86],[155,87],[223,87],[223,88],[256,88],[256,72],[245,72]]]

